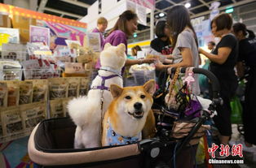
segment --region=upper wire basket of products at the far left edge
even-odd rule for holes
[[[26,51],[12,51],[12,50],[2,50],[0,54],[0,60],[12,60],[23,62],[28,60],[29,54]]]

